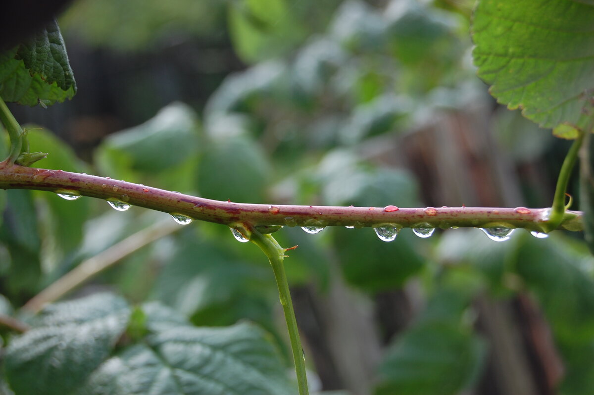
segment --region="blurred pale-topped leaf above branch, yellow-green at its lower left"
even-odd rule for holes
[[[115,177],[126,168],[165,172],[200,151],[194,110],[172,103],[142,125],[106,138],[98,148],[100,166]]]

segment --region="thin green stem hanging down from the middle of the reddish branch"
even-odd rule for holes
[[[307,395],[309,390],[307,387],[307,376],[305,375],[303,349],[301,347],[301,339],[299,339],[297,320],[295,319],[295,311],[293,311],[293,302],[291,301],[289,283],[287,282],[287,275],[283,263],[286,250],[280,247],[273,236],[263,235],[253,228],[251,229],[251,237],[249,238],[249,241],[260,247],[268,257],[268,261],[270,261],[270,265],[272,266],[274,279],[276,279],[276,285],[279,287],[280,304],[283,306],[285,320],[287,322],[287,330],[289,330],[289,340],[293,352],[293,362],[295,362],[299,395]]]

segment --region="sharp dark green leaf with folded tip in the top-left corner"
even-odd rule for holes
[[[26,42],[0,53],[0,96],[5,102],[53,104],[71,99],[76,90],[55,20]]]

